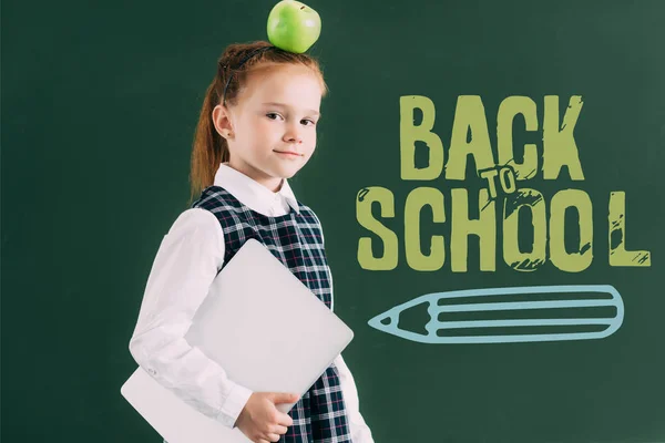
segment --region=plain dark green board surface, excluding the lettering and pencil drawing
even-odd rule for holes
[[[216,59],[231,42],[266,39],[273,4],[2,2],[3,442],[161,442],[120,395],[135,369],[129,340],[160,241],[186,208],[191,141]],[[311,53],[330,94],[317,152],[290,183],[323,222],[336,312],[356,333],[345,358],[375,440],[665,442],[665,2],[307,4],[323,19]],[[434,102],[444,146],[459,95],[482,97],[493,146],[504,97],[533,99],[542,127],[544,95],[560,95],[562,113],[582,95],[575,140],[586,179],[533,187],[590,194],[592,266],[516,272],[498,256],[497,271],[481,272],[471,239],[468,272],[411,270],[406,195],[452,185],[400,179],[401,95]],[[518,146],[540,141],[520,124]],[[356,220],[367,186],[396,196],[386,222],[400,238],[392,271],[364,270],[356,258],[370,235]],[[627,248],[651,250],[648,268],[608,266],[612,190],[626,193]],[[563,284],[613,285],[622,328],[603,340],[434,346],[367,324],[428,292]]]

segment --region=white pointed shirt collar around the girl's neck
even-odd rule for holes
[[[296,196],[286,178],[282,179],[279,190],[274,193],[245,174],[228,166],[228,163],[222,163],[215,174],[214,184],[228,190],[239,202],[257,213],[269,214],[269,208],[274,206],[276,199],[280,200],[280,203],[286,203],[296,213],[300,213]]]

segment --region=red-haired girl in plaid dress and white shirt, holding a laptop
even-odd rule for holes
[[[192,199],[198,198],[162,240],[130,342],[136,362],[160,383],[253,442],[372,442],[341,356],[298,400],[249,391],[184,339],[211,282],[248,238],[332,309],[319,219],[287,183],[315,150],[326,92],[309,55],[263,41],[232,44],[222,54],[192,152]],[[296,400],[289,414],[275,408]]]

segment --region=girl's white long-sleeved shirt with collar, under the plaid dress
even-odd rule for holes
[[[273,193],[227,164],[219,165],[215,185],[250,209],[282,216],[299,212],[286,179]],[[162,239],[147,278],[130,352],[161,384],[203,414],[233,427],[252,395],[215,361],[185,340],[185,333],[217,271],[224,264],[224,233],[206,209],[183,212]],[[335,359],[354,443],[374,443],[359,411],[358,392],[341,354]]]

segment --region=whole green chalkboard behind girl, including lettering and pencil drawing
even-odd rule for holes
[[[161,442],[129,340],[273,4],[2,3],[3,442]],[[330,93],[290,184],[376,442],[665,442],[665,2],[307,4]]]

